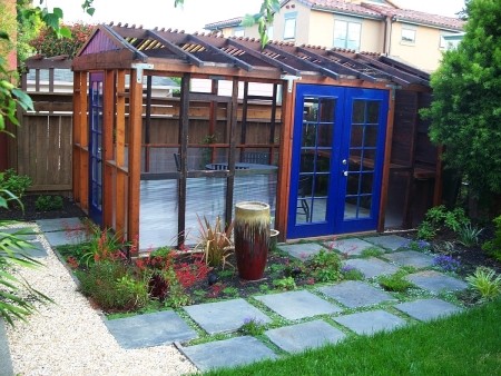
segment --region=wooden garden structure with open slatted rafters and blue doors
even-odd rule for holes
[[[440,189],[436,188],[440,187],[441,170],[440,164],[438,164],[438,152],[425,135],[426,123],[420,120],[418,115],[419,108],[426,106],[430,97],[430,77],[425,72],[387,57],[347,50],[328,50],[313,46],[296,47],[283,42],[271,42],[262,49],[259,41],[254,39],[227,39],[208,34],[187,34],[170,29],[147,30],[127,24],[100,24],[75,58],[72,69],[75,72],[73,197],[89,214],[92,214],[92,200],[95,200],[97,206],[94,209],[97,210],[97,221],[105,227],[114,228],[128,240],[138,238],[139,218],[144,215],[139,212],[140,181],[141,172],[145,175],[145,159],[149,158],[148,154],[145,154],[145,146],[147,150],[151,139],[149,125],[155,118],[155,98],[151,98],[153,77],[180,78],[179,112],[176,116],[178,141],[170,145],[178,150],[176,158],[178,166],[175,171],[156,177],[177,180],[178,246],[185,243],[188,179],[207,177],[226,179],[224,215],[227,222],[232,220],[233,187],[236,172],[238,172],[238,164],[242,161],[242,152],[246,148],[256,147],[246,140],[248,106],[253,99],[263,99],[248,93],[249,82],[268,83],[273,88],[267,98],[271,110],[267,120],[269,127],[266,128],[265,137],[268,142],[261,147],[268,151],[266,154],[267,162],[277,166],[275,227],[281,231],[283,239],[297,237],[294,231],[289,231],[292,227],[291,211],[296,207],[296,200],[306,200],[312,211],[314,205],[320,208],[322,202],[327,202],[324,211],[326,218],[331,216],[332,209],[330,208],[332,207],[330,205],[333,205],[333,201],[325,199],[322,196],[324,194],[320,194],[326,189],[324,189],[322,179],[327,177],[326,174],[334,176],[333,174],[341,172],[341,170],[337,171],[338,167],[334,167],[333,164],[328,165],[331,166],[328,171],[321,170],[318,166],[324,155],[330,154],[331,150],[336,152],[338,148],[336,149],[336,146],[333,145],[327,150],[318,141],[313,146],[305,146],[304,142],[297,144],[297,139],[302,135],[301,131],[297,132],[298,125],[301,126],[302,121],[307,123],[306,115],[304,115],[304,119],[297,119],[297,117],[305,113],[306,108],[313,107],[316,109],[315,111],[318,110],[321,113],[322,109],[331,106],[327,100],[333,103],[341,102],[340,96],[347,99],[353,98],[350,99],[353,103],[356,101],[361,105],[365,103],[364,106],[369,108],[365,110],[367,116],[370,116],[373,101],[360,96],[376,93],[382,99],[374,99],[374,101],[387,103],[386,107],[381,107],[382,113],[379,119],[383,119],[384,123],[380,125],[381,131],[377,137],[382,138],[382,148],[377,151],[377,159],[372,160],[373,167],[371,168],[373,170],[367,170],[369,167],[362,166],[370,165],[366,156],[370,151],[372,152],[372,149],[369,147],[365,151],[363,146],[361,148],[351,147],[350,150],[360,149],[362,151],[355,150],[358,157],[355,156],[355,151],[353,158],[350,155],[350,162],[346,162],[346,157],[343,157],[345,158],[343,164],[350,165],[350,168],[352,160],[358,158],[357,166],[362,167],[356,171],[357,181],[361,181],[362,177],[364,179],[371,177],[371,179],[380,181],[376,187],[377,202],[375,202],[375,196],[371,196],[373,192],[362,191],[364,188],[362,182],[358,182],[358,186],[362,187],[357,191],[360,197],[356,194],[350,197],[350,202],[355,202],[355,216],[362,216],[362,206],[356,206],[356,202],[360,204],[367,198],[369,200],[373,199],[373,206],[376,208],[375,211],[371,211],[371,218],[372,224],[374,225],[375,220],[376,225],[375,227],[371,225],[374,227],[372,230],[382,231],[385,227],[387,196],[391,191],[392,195],[399,192],[403,198],[402,218],[407,224],[412,222],[412,197],[415,194],[414,181],[416,180],[429,179],[432,181],[429,197],[433,197],[435,202],[440,198]],[[190,80],[196,78],[210,80],[209,92],[190,91]],[[218,82],[222,80],[232,82],[229,96],[218,93]],[[240,82],[244,82],[243,95]],[[298,105],[299,88],[306,91],[301,99],[303,102]],[[325,95],[322,93],[325,88],[360,89],[362,91]],[[307,90],[314,91],[312,93]],[[316,93],[315,90],[321,91]],[[217,116],[220,110],[218,110],[217,103],[226,103],[225,142],[210,145],[213,148],[210,161],[215,161],[215,148],[225,149],[224,169],[190,169],[188,167],[188,150],[193,147],[189,127],[190,119],[195,117],[193,113],[195,101],[209,103],[207,111],[209,127],[213,129],[217,126]],[[324,125],[322,119],[315,121],[317,129]],[[366,130],[363,130],[363,135],[369,135],[374,125],[367,122],[369,120],[364,121],[362,126]],[[334,120],[332,120],[332,125],[336,127]],[[358,137],[353,129],[352,138]],[[320,137],[320,133],[316,135]],[[369,136],[363,137],[369,139]],[[277,139],[279,139],[278,142]],[[337,137],[334,137],[333,142],[337,142],[336,139]],[[198,141],[198,146],[207,147],[200,141]],[[376,148],[373,149],[375,152]],[[361,158],[364,152],[365,159],[362,162]],[[303,157],[297,157],[297,154],[314,155],[312,160],[318,164],[315,165],[317,169],[313,172],[305,170],[302,167]],[[374,164],[381,164],[381,171],[376,170]],[[352,174],[351,170],[342,172],[348,177]],[[392,188],[390,186],[392,174],[396,177],[405,176],[406,180]],[[311,196],[305,198],[299,185],[301,178],[307,175],[312,178],[311,181],[322,180],[322,184],[315,182],[316,186],[313,187],[316,189],[316,194],[310,192],[307,195]],[[335,176],[337,179],[337,175]],[[342,184],[350,185],[350,182]],[[325,191],[328,196],[331,194],[327,190]],[[307,201],[308,199],[311,200]],[[346,202],[348,202],[348,198],[346,198]],[[424,206],[426,205],[430,202],[424,204]],[[338,216],[341,216],[338,217],[341,221],[346,219],[346,214],[344,217],[342,214]],[[299,214],[296,217],[299,217]],[[314,219],[312,220],[308,221],[308,225],[315,222]],[[303,225],[302,222],[297,224]],[[302,226],[301,229],[303,227],[308,229],[308,226]],[[367,229],[360,228],[360,230]],[[352,231],[352,229],[346,227],[341,230],[341,232],[347,231]],[[331,234],[340,231],[336,229],[331,231]],[[292,236],[288,236],[291,234]],[[318,234],[312,232],[312,236],[316,235]]]

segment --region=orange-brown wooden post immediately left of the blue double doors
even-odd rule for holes
[[[278,151],[278,176],[276,189],[275,228],[281,231],[281,240],[286,239],[288,195],[291,191],[292,139],[294,135],[294,100],[296,83],[292,92],[287,92],[287,82],[282,86],[282,129]]]

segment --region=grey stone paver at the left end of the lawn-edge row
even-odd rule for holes
[[[181,347],[181,352],[202,372],[222,367],[237,367],[277,357],[271,348],[249,336]]]

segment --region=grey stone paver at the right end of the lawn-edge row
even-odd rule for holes
[[[429,321],[462,311],[460,307],[441,299],[420,299],[401,303],[395,305],[395,308],[421,321]]]

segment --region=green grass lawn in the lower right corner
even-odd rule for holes
[[[501,299],[337,346],[205,375],[501,375]]]

